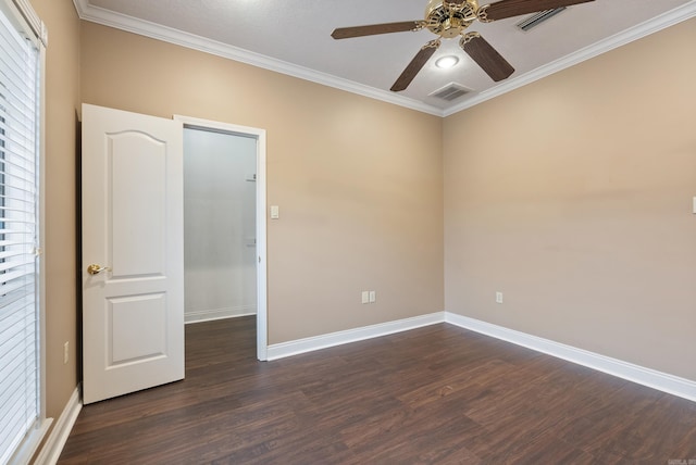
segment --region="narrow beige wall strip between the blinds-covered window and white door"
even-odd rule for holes
[[[75,141],[79,20],[71,0],[32,0],[48,28],[46,62],[47,415],[60,416],[77,386]],[[70,362],[63,364],[63,343]]]

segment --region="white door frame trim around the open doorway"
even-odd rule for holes
[[[257,359],[268,360],[265,129],[174,115],[185,128],[213,129],[257,139]]]

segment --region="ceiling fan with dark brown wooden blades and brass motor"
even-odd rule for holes
[[[425,20],[399,23],[372,24],[368,26],[340,27],[332,33],[334,39],[374,36],[377,34],[417,32],[427,28],[439,36],[425,43],[396,79],[391,90],[398,92],[409,87],[440,46],[440,39],[451,39],[461,35],[459,46],[495,81],[507,79],[514,68],[496,51],[481,34],[465,33],[474,22],[489,23],[505,17],[536,13],[594,0],[500,0],[478,7],[478,0],[430,0],[425,8]]]

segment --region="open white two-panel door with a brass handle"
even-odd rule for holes
[[[83,105],[84,403],[184,378],[183,124]]]

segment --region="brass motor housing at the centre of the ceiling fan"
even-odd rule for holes
[[[445,39],[457,37],[476,20],[477,0],[461,3],[430,0],[425,8],[425,27]]]

